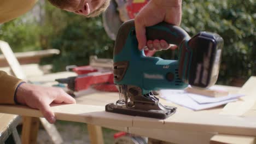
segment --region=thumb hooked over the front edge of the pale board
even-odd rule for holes
[[[55,123],[56,118],[55,118],[54,112],[51,111],[50,105],[42,104],[42,106],[39,107],[39,110],[42,112],[43,116],[46,118],[46,120],[49,123]]]

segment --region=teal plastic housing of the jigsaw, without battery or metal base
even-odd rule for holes
[[[150,28],[167,31],[174,37],[175,32],[160,26]],[[138,50],[136,35],[132,34],[135,28],[131,28],[125,45],[118,55],[114,56],[114,62],[127,61],[129,66],[121,81],[115,81],[118,85],[133,85],[142,89],[143,94],[159,89],[184,89],[188,86],[178,76],[178,60],[165,60],[159,57],[147,57],[144,50]],[[185,40],[184,43],[187,43]],[[169,77],[168,77],[169,76]],[[172,78],[172,80],[169,80]]]

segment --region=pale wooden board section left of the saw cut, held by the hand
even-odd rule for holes
[[[51,110],[55,113],[56,119],[63,121],[132,127],[133,117],[105,112],[102,106],[79,104],[53,105],[51,106]],[[0,105],[0,112],[16,113],[22,116],[43,117],[39,110],[21,105]],[[118,121],[113,121],[113,119]]]

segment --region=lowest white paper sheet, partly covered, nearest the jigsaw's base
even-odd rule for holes
[[[195,100],[191,99],[187,92],[184,92],[183,90],[170,90],[170,89],[164,89],[161,90],[161,98],[166,99],[168,101],[171,101],[172,103],[176,103],[178,105],[187,107],[192,110],[204,110],[204,109],[210,109],[212,107],[217,107],[220,105],[224,105],[227,103],[230,103],[231,101],[236,101],[238,99],[228,99],[219,101],[217,103],[206,103],[206,104],[199,104]]]

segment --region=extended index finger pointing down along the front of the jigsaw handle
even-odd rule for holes
[[[146,28],[142,19],[135,19],[135,30],[136,30],[136,37],[138,40],[138,49],[142,50],[147,44],[146,38]]]

